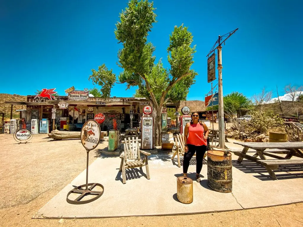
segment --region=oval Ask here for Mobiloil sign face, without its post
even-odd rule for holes
[[[101,129],[95,120],[88,120],[81,129],[81,143],[87,151],[95,149],[100,141]]]

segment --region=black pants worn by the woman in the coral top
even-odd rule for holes
[[[196,153],[196,161],[197,161],[196,173],[200,173],[203,164],[203,157],[206,152],[207,146],[205,145],[195,146],[191,144],[187,144],[187,146],[188,146],[188,152],[184,153],[183,156],[183,173],[187,173],[189,162],[195,153]]]

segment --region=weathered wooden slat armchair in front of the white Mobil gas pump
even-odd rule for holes
[[[151,153],[140,150],[138,137],[136,137],[136,139],[132,137],[132,140],[130,139],[130,137],[124,138],[124,142],[125,142],[124,152],[122,152],[122,154],[120,155],[121,164],[119,169],[119,171],[122,171],[123,184],[126,183],[125,169],[138,168],[138,167],[142,169],[142,166],[145,166],[147,179],[150,179],[147,157],[150,156]],[[140,160],[140,153],[145,155],[142,161]]]

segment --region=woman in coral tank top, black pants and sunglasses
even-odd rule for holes
[[[207,148],[207,136],[209,130],[205,123],[199,123],[199,114],[191,113],[191,122],[184,128],[185,153],[183,157],[183,175],[187,176],[189,162],[196,153],[196,181],[200,182],[200,172],[203,164],[203,157]]]

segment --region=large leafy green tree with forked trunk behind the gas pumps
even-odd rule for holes
[[[197,73],[191,69],[195,53],[193,36],[183,25],[175,26],[169,37],[167,58],[171,67],[165,69],[161,60],[155,63],[155,47],[147,41],[148,32],[157,22],[154,11],[153,3],[148,0],[131,0],[120,13],[115,36],[122,44],[118,65],[123,71],[118,79],[126,83],[127,88],[138,86],[135,96],[146,97],[150,101],[156,123],[155,144],[159,145],[162,108],[168,100],[185,100]]]

